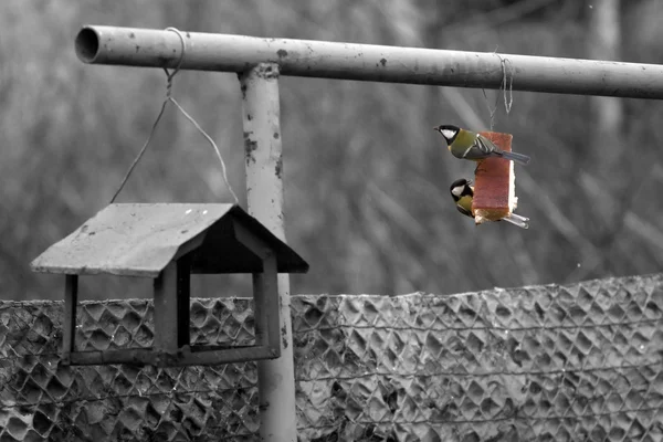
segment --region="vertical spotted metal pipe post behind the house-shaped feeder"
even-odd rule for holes
[[[249,213],[281,240],[283,180],[278,103],[278,65],[260,63],[240,74],[244,118]],[[295,370],[290,312],[290,278],[278,275],[281,357],[257,362],[260,436],[296,442]]]

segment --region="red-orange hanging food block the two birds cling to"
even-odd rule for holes
[[[513,136],[511,134],[495,131],[480,134],[502,150],[512,151]],[[529,219],[515,214],[514,210],[517,207],[514,162],[498,157],[482,160],[474,172],[474,198],[472,201],[474,222],[482,224],[486,221],[504,220],[527,229]]]

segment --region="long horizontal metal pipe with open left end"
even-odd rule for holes
[[[438,86],[663,98],[663,65],[326,41],[182,32],[181,69],[245,72],[277,63],[281,75]],[[85,63],[176,67],[178,34],[168,30],[86,25],[76,36]]]

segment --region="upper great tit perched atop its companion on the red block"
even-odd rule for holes
[[[490,157],[499,157],[514,160],[520,165],[529,162],[527,155],[504,151],[488,138],[471,130],[461,129],[452,125],[442,125],[433,128],[442,134],[446,140],[449,151],[456,158],[481,161]]]

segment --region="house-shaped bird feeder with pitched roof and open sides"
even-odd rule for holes
[[[110,204],[32,262],[65,275],[62,360],[66,365],[215,365],[281,356],[277,273],[308,264],[256,219],[233,204]],[[191,274],[251,273],[253,346],[192,346]],[[152,348],[78,351],[74,345],[78,275],[154,280]]]

